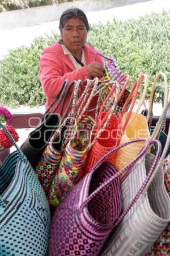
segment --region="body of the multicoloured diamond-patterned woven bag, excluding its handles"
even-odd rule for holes
[[[83,177],[84,164],[91,141],[94,118],[83,115],[78,123],[76,136],[69,141],[63,152],[58,170],[48,193],[50,205],[57,206]]]

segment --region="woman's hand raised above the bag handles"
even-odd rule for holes
[[[100,63],[92,62],[86,65],[86,68],[91,77],[103,77],[105,75],[104,68]]]

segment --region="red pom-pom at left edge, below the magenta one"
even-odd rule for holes
[[[12,137],[15,139],[15,141],[18,141],[19,136],[18,136],[18,133],[16,133],[15,128],[10,125],[5,125],[5,127],[9,131],[9,133],[12,135]],[[13,143],[11,142],[10,138],[8,137],[8,135],[3,129],[0,129],[0,144],[2,147],[13,146]]]

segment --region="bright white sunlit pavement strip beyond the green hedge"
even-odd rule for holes
[[[162,10],[170,10],[169,0],[150,0],[111,9],[91,11],[86,14],[90,24],[97,24],[99,22],[106,23],[112,21],[113,18],[118,20],[137,19],[139,16],[152,12],[160,13]],[[29,27],[2,28],[0,30],[0,60],[8,54],[10,49],[20,46],[30,46],[33,39],[37,36],[51,35],[53,31],[59,32],[58,24],[59,20],[54,20],[53,22],[40,23]]]

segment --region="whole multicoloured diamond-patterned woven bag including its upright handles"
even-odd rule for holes
[[[75,104],[75,111],[71,113],[71,116],[76,119],[77,127],[75,136],[67,143],[64,143],[65,151],[50,186],[48,201],[54,207],[64,199],[73,186],[83,177],[84,164],[91,146],[91,134],[95,126],[94,118],[83,114],[97,92],[98,81],[98,79],[87,81],[86,94],[84,94],[83,101],[80,105]],[[87,96],[89,97],[87,98]]]

